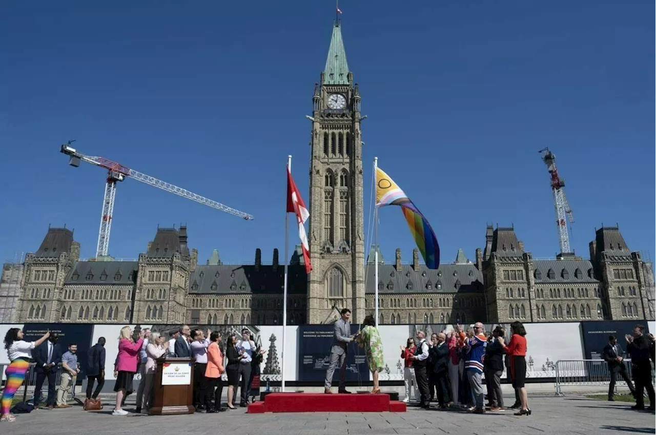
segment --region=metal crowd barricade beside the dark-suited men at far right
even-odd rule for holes
[[[626,373],[632,379],[631,360],[624,360]],[[652,369],[652,379],[655,373]],[[607,386],[611,381],[608,364],[604,360],[556,361],[556,396],[564,396],[563,386]],[[615,388],[626,386],[621,376],[615,377]]]

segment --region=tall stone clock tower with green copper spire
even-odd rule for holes
[[[350,308],[365,316],[360,96],[348,70],[340,22],[312,97],[308,323]]]

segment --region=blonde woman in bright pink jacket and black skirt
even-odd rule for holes
[[[132,381],[136,373],[139,350],[144,342],[144,330],[139,333],[139,339],[134,342],[132,338],[132,329],[129,326],[121,328],[119,335],[119,354],[116,357],[114,371],[117,372],[116,384],[116,405],[112,415],[127,415],[127,411],[121,409],[121,402],[125,394],[132,393]],[[142,380],[143,381],[143,380]]]

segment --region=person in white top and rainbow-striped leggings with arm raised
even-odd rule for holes
[[[2,413],[0,421],[14,421],[16,417],[9,413],[14,394],[25,381],[25,373],[30,367],[30,358],[32,358],[32,349],[43,343],[50,337],[50,331],[43,334],[43,337],[37,341],[23,341],[24,335],[20,328],[10,328],[5,335],[5,349],[9,356],[9,367],[5,370],[7,381],[5,390],[0,401],[0,411]]]

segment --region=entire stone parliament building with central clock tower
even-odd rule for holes
[[[485,229],[485,247],[469,260],[462,250],[440,268],[406,261],[396,250],[385,263],[365,252],[361,96],[346,62],[340,24],[333,26],[321,80],[312,94],[310,226],[313,270],[300,246],[290,259],[287,323],[327,323],[341,308],[353,321],[373,312],[379,323],[654,320],[651,262],[631,251],[619,228],[602,227],[590,259],[573,254],[533,259],[514,228]],[[222,264],[215,251],[199,264],[187,228],[157,228],[136,261],[80,260],[66,228],[49,228],[22,264],[5,264],[2,320],[62,323],[190,323],[280,325],[283,262],[274,249],[262,264]]]

